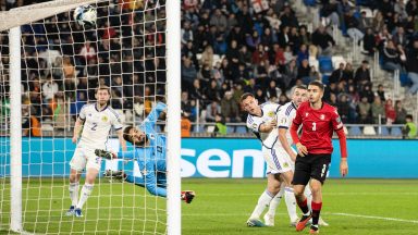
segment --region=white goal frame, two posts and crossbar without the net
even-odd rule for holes
[[[101,0],[54,0],[12,9],[0,13],[0,30],[9,30],[10,47],[10,230],[24,232],[22,225],[22,98],[21,98],[21,25]],[[48,8],[48,11],[46,11]],[[181,234],[181,1],[165,2],[167,30],[167,231]],[[20,15],[25,15],[21,17]]]

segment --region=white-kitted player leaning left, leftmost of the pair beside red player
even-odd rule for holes
[[[253,94],[246,92],[241,97],[241,103],[248,112],[247,127],[260,139],[262,144],[262,154],[267,162],[267,189],[261,194],[250,218],[248,226],[263,226],[260,215],[274,196],[280,191],[280,175],[285,166],[276,158],[275,146],[278,141],[276,113],[280,106],[276,103],[258,104]]]

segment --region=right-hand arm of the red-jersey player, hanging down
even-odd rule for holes
[[[340,140],[340,151],[341,151],[340,173],[342,176],[345,176],[348,174],[347,139],[344,133],[344,124],[341,122],[341,118],[336,112],[336,110],[334,112],[334,116],[331,120],[331,122]]]

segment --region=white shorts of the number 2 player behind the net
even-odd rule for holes
[[[95,149],[77,146],[70,161],[70,166],[78,172],[82,172],[84,169],[96,169],[100,171],[101,158],[95,154]]]

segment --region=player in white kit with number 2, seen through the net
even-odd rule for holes
[[[108,106],[110,88],[101,86],[96,89],[96,103],[83,106],[74,125],[73,143],[78,140],[79,132],[83,133],[71,159],[70,166],[70,198],[71,207],[67,215],[83,217],[82,208],[93,191],[95,180],[100,172],[101,158],[95,154],[95,149],[106,149],[111,127],[116,131],[123,151],[126,143],[123,139],[121,120],[118,113]],[[83,170],[86,169],[86,180],[78,200],[78,185]]]

